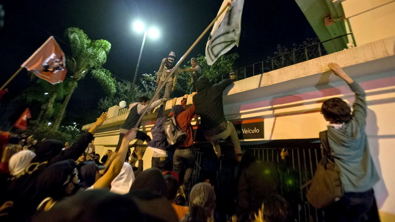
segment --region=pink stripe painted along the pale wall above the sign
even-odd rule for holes
[[[376,80],[366,81],[366,82],[359,83],[359,84],[365,90],[390,87],[390,86],[395,85],[395,77],[376,79]],[[326,88],[326,89],[316,90],[316,91],[312,91],[312,92],[295,94],[292,96],[284,96],[281,98],[275,98],[273,100],[263,100],[260,102],[244,104],[244,105],[241,105],[240,111],[248,110],[248,109],[256,109],[256,108],[260,108],[260,107],[267,107],[267,106],[271,106],[271,105],[280,105],[280,104],[298,102],[298,101],[302,101],[302,100],[311,100],[311,99],[322,98],[322,97],[327,97],[327,96],[350,94],[350,93],[352,93],[350,88],[348,88],[346,86],[341,86],[341,87],[337,87],[337,88],[335,88],[335,87]]]

